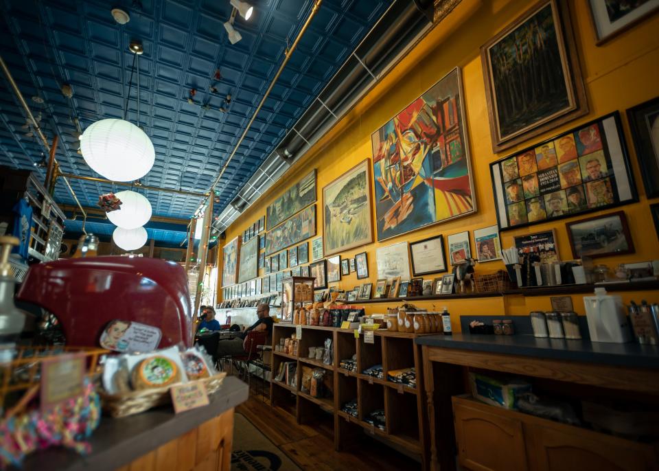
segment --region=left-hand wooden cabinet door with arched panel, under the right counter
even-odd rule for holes
[[[522,422],[455,400],[453,415],[460,466],[473,471],[527,470]]]

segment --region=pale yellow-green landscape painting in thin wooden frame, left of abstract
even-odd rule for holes
[[[325,256],[373,242],[369,159],[323,187]]]

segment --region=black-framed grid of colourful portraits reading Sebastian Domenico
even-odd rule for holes
[[[617,111],[491,163],[490,172],[500,231],[638,200]]]

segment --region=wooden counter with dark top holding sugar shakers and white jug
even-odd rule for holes
[[[465,391],[465,367],[542,380],[557,380],[574,384],[574,388],[583,385],[628,393],[633,391],[652,397],[659,395],[658,347],[589,341],[552,343],[548,339],[524,335],[435,335],[423,336],[415,341],[422,345],[431,470],[456,469],[456,454],[459,455],[463,467],[478,470],[555,470],[561,469],[555,464],[559,462],[571,463],[563,469],[575,469],[576,463],[586,459],[590,460],[588,462],[591,465],[599,463],[598,469],[602,471],[650,470],[659,466],[656,446],[645,446],[642,452],[636,450],[629,455],[624,450],[631,452],[634,442],[628,440],[454,398]],[[487,426],[483,425],[485,422]],[[479,425],[474,425],[476,423]],[[474,446],[467,450],[465,441],[473,437],[467,438],[465,435],[465,424],[470,424],[472,430],[479,428],[484,450],[476,450],[477,447]],[[487,439],[492,437],[496,430],[505,430],[507,438],[497,447],[488,447]],[[461,442],[459,449],[455,446],[456,433],[458,441]],[[545,438],[550,439],[547,437],[551,437],[551,446],[542,441]],[[471,445],[474,445],[473,441]],[[551,453],[554,455],[549,459]],[[471,456],[467,456],[470,454]],[[532,461],[537,459],[538,455],[546,457],[542,466],[537,465],[540,461]],[[479,460],[478,457],[483,459]],[[637,461],[638,457],[643,457],[643,467],[638,468],[638,462],[632,460],[632,457]],[[488,460],[490,463],[497,463],[496,466],[483,466]]]

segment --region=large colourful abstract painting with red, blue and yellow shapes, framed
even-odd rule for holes
[[[371,135],[378,240],[476,211],[460,69]]]

